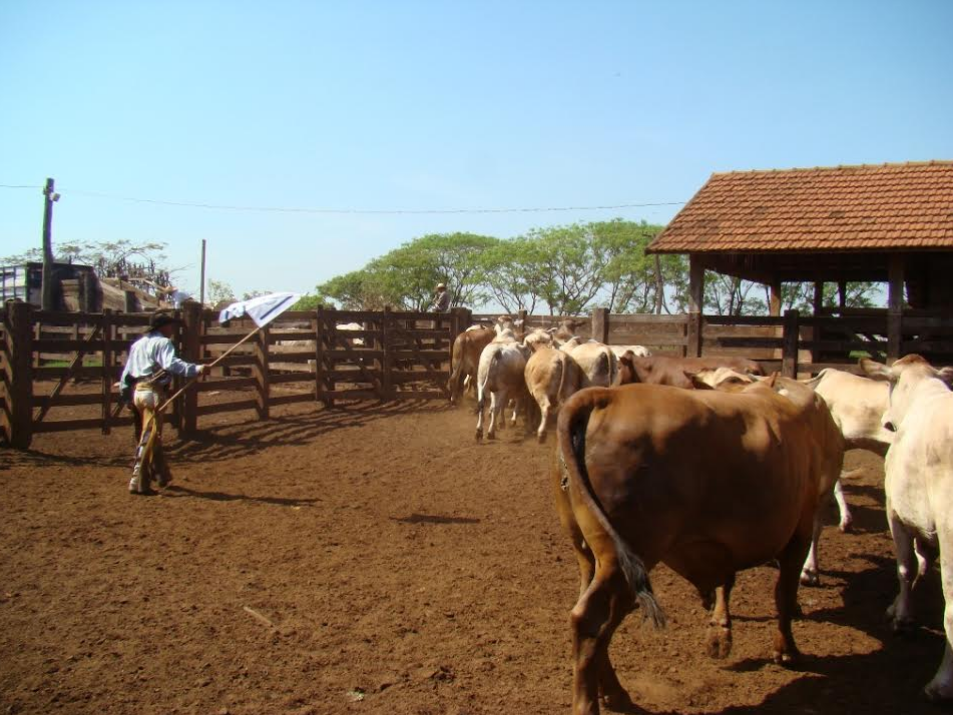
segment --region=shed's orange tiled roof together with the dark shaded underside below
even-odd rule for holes
[[[948,310],[953,161],[713,174],[648,250],[769,285],[892,277]]]

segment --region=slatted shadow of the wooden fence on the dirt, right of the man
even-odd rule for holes
[[[269,447],[301,446],[322,435],[348,427],[362,427],[378,420],[419,412],[449,409],[443,403],[406,401],[365,402],[346,407],[322,408],[297,414],[229,422],[201,430],[190,440],[180,440],[166,451],[179,461],[221,461],[260,452]]]

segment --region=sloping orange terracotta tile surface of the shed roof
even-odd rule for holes
[[[953,161],[713,174],[663,253],[953,249]]]

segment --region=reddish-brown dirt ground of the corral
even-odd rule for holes
[[[552,443],[477,445],[437,403],[274,414],[173,441],[156,497],[126,492],[125,430],[0,448],[0,713],[568,713],[577,575]],[[646,712],[936,712],[937,579],[923,628],[891,635],[882,460],[848,466],[856,530],[825,530],[823,585],[801,590],[804,667],[770,660],[770,568],[739,577],[726,661],[659,568],[668,628],[630,617],[613,641]]]

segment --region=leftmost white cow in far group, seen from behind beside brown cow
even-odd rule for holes
[[[503,409],[511,399],[516,401],[513,410],[513,423],[516,423],[517,413],[521,404],[525,404],[526,380],[523,372],[526,369],[526,360],[530,350],[516,340],[516,335],[510,329],[498,330],[499,335],[483,348],[480,354],[480,365],[477,369],[477,441],[483,439],[483,409],[486,406],[486,396],[490,395],[490,425],[487,428],[487,439],[496,437],[497,420]],[[506,420],[500,421],[500,429]]]

